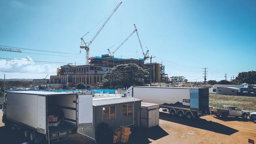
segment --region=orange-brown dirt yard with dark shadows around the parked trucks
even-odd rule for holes
[[[134,129],[126,144],[248,144],[248,138],[256,140],[256,124],[241,118],[228,117],[222,120],[208,115],[187,120],[160,112],[159,123],[159,126],[150,129]],[[0,111],[1,144],[26,142],[19,133],[7,132],[3,126]],[[56,144],[73,143],[93,144],[78,136]]]

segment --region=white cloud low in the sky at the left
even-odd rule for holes
[[[36,64],[29,56],[21,59],[0,60],[0,71],[15,71],[15,72],[56,72],[55,64]]]

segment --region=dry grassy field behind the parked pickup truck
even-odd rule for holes
[[[246,111],[256,111],[255,96],[229,96],[209,94],[209,106],[219,108],[221,105],[232,105]]]

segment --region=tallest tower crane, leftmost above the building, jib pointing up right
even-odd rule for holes
[[[95,40],[95,38],[97,37],[97,35],[100,33],[100,31],[102,30],[102,28],[106,25],[106,23],[108,22],[108,20],[112,17],[112,15],[115,13],[115,11],[118,9],[118,7],[122,4],[122,2],[120,2],[119,4],[117,4],[117,6],[115,7],[115,9],[113,10],[113,12],[109,15],[109,17],[105,20],[105,22],[102,24],[102,26],[100,27],[100,29],[96,32],[96,34],[93,36],[93,38],[91,39],[90,42],[85,42],[83,40],[83,37],[85,35],[87,35],[87,32],[85,35],[83,35],[81,37],[81,49],[85,49],[86,50],[86,65],[89,64],[89,46],[91,45],[91,43]]]

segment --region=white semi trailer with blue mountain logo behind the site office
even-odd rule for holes
[[[185,87],[130,87],[126,96],[132,96],[148,103],[160,104],[171,116],[197,118],[209,111],[208,88]]]

